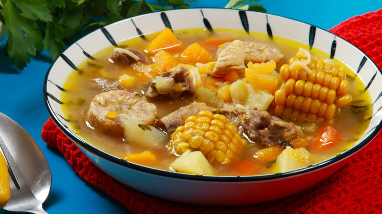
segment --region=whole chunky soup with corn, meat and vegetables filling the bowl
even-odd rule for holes
[[[225,29],[145,37],[83,62],[62,92],[80,137],[126,161],[217,176],[285,172],[347,150],[369,124],[357,75],[305,44]]]

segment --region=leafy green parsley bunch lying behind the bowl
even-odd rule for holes
[[[23,69],[30,62],[30,55],[43,48],[52,59],[58,57],[82,29],[154,11],[190,7],[184,0],[157,1],[163,6],[145,0],[0,0],[0,40],[6,30],[8,43],[4,49],[12,62]],[[252,1],[257,0],[230,0],[226,8],[265,12],[261,5],[247,5]]]

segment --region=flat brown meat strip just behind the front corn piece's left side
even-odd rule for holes
[[[188,106],[180,107],[178,110],[173,111],[166,116],[159,119],[161,123],[163,123],[167,129],[167,132],[173,132],[176,128],[183,126],[185,124],[185,120],[192,116],[197,115],[199,111],[211,111],[211,108],[208,107],[205,103],[197,103],[193,102]]]

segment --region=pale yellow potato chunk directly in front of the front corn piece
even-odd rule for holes
[[[178,172],[200,175],[213,175],[214,170],[201,151],[185,151],[170,167]]]

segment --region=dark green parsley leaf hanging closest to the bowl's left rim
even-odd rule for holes
[[[58,20],[53,17],[52,21],[47,23],[47,30],[43,40],[45,49],[49,50],[49,56],[52,59],[57,58],[65,49],[64,28],[58,23]]]

